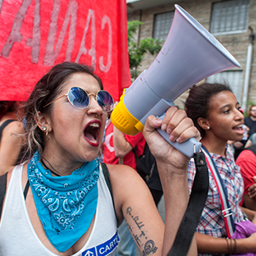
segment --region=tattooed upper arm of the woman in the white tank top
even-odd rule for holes
[[[108,165],[108,168],[119,224],[126,220],[141,254],[152,251],[154,255],[162,255],[164,222],[149,188],[140,175],[126,165]]]

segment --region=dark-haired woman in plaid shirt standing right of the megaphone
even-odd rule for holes
[[[202,83],[193,87],[185,102],[187,116],[201,133],[201,145],[211,154],[220,177],[235,222],[243,221],[243,211],[256,224],[256,212],[239,206],[243,197],[243,178],[235,164],[228,140],[239,141],[244,135],[244,116],[239,102],[229,86],[220,83]],[[194,159],[187,170],[189,190],[196,174]],[[246,239],[226,239],[225,220],[215,179],[209,170],[209,191],[197,226],[198,255],[245,254],[256,252],[256,233]],[[235,247],[236,242],[236,247]],[[235,251],[234,251],[235,250]]]

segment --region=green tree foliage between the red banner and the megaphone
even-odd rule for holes
[[[128,21],[128,52],[130,64],[130,76],[135,79],[139,75],[138,68],[145,54],[154,55],[159,53],[162,48],[162,40],[154,40],[153,38],[145,38],[138,43],[135,40],[135,33],[143,24],[141,21]]]

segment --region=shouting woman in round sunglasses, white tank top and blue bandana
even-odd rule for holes
[[[0,255],[115,255],[126,225],[142,255],[167,255],[189,200],[187,156],[157,131],[183,143],[199,132],[185,111],[149,116],[143,135],[158,164],[165,225],[133,168],[97,159],[111,95],[84,64],[64,62],[40,78],[26,102],[27,160],[7,173]],[[105,159],[104,159],[105,160]],[[108,174],[107,174],[108,173]],[[111,185],[111,186],[110,186]],[[197,255],[195,237],[188,251]]]

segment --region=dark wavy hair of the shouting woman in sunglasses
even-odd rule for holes
[[[40,153],[45,148],[44,132],[39,129],[35,121],[35,115],[38,111],[50,113],[53,104],[45,107],[46,104],[55,100],[64,88],[64,82],[72,77],[73,73],[88,73],[96,78],[101,89],[103,89],[102,80],[94,73],[92,67],[85,64],[64,62],[56,64],[48,73],[46,73],[38,83],[33,92],[31,92],[24,106],[24,115],[26,118],[26,155],[31,157],[38,149]]]

